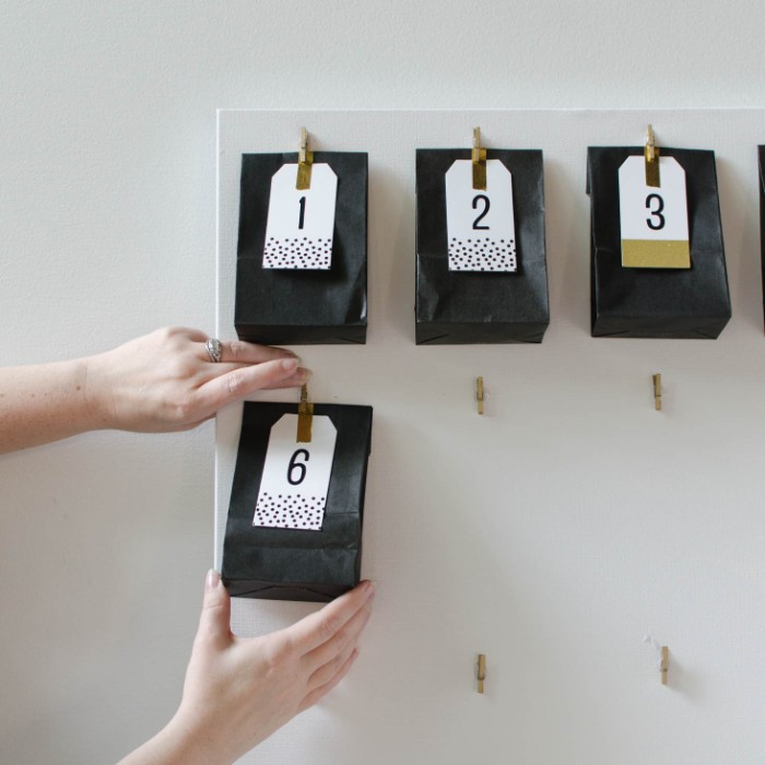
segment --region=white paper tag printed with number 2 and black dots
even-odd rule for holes
[[[513,176],[499,160],[486,162],[486,189],[473,189],[470,160],[446,173],[449,271],[516,271]]]

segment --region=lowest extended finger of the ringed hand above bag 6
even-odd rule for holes
[[[203,420],[216,412],[222,407],[239,401],[267,387],[279,387],[279,384],[289,378],[304,375],[307,379],[307,370],[298,373],[297,358],[282,358],[280,361],[263,362],[256,366],[243,366],[232,369],[200,386],[195,393],[195,405],[198,410],[197,420]],[[297,382],[295,382],[297,385]],[[302,382],[299,384],[302,385]]]

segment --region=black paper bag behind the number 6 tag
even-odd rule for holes
[[[321,531],[252,526],[271,427],[297,404],[247,402],[223,542],[232,596],[326,602],[358,584],[372,407],[314,405],[338,431]]]

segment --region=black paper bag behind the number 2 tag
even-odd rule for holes
[[[540,343],[550,325],[539,150],[489,149],[513,175],[516,272],[449,271],[446,180],[467,149],[417,149],[416,342]]]

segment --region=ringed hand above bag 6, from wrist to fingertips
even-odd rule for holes
[[[86,391],[98,427],[188,429],[256,390],[299,387],[307,379],[290,351],[223,341],[215,363],[207,340],[199,330],[173,327],[87,358]]]

